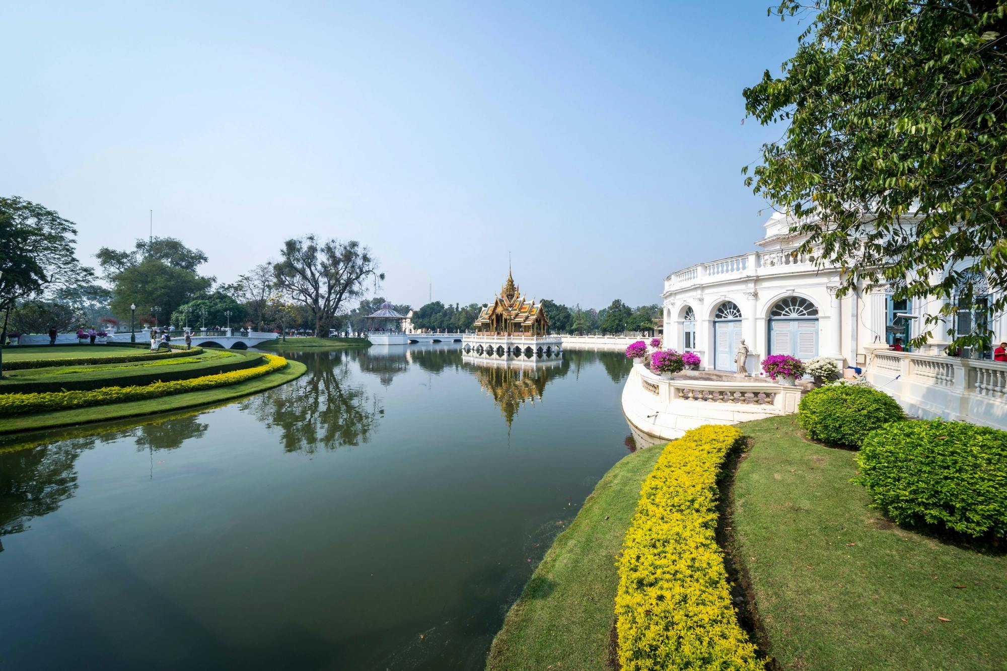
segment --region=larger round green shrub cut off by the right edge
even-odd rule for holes
[[[901,421],[857,454],[874,506],[898,524],[973,537],[1007,535],[1007,431],[965,422]]]

